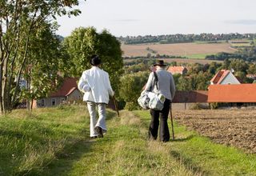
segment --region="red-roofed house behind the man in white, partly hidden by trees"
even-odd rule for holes
[[[65,78],[62,86],[48,98],[36,100],[33,108],[58,106],[63,102],[82,100],[82,93],[78,90],[77,78]]]

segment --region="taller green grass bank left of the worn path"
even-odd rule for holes
[[[84,109],[14,110],[0,117],[0,175],[41,173],[65,147],[85,140]]]

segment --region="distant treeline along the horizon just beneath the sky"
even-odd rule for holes
[[[256,38],[256,34],[168,34],[168,35],[146,35],[146,36],[126,36],[119,37],[118,40],[125,44],[141,44],[141,43],[151,43],[151,42],[159,42],[161,44],[166,43],[179,43],[179,42],[219,42],[222,40],[232,40],[232,39],[254,39]]]

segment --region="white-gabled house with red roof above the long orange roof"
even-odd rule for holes
[[[232,74],[230,70],[220,70],[214,75],[214,78],[210,80],[210,85],[214,84],[241,84],[238,78]]]

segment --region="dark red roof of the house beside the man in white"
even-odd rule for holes
[[[66,97],[71,94],[75,89],[78,89],[78,78],[65,78],[62,86],[57,92],[50,94],[50,97]]]

